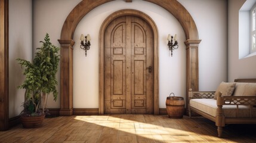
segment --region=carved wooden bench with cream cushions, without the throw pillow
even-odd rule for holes
[[[256,124],[256,79],[236,79],[234,88],[231,96],[189,89],[189,116],[193,111],[215,122],[219,137],[227,124]]]

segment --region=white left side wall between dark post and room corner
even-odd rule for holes
[[[17,58],[32,60],[32,1],[9,1],[9,117],[20,114],[24,89],[17,89],[24,81]]]

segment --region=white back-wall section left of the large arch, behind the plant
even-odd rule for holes
[[[33,1],[33,53],[36,48],[41,47],[39,41],[44,41],[45,34],[48,33],[51,43],[60,47],[58,39],[64,21],[70,11],[81,2],[81,0],[35,0]],[[60,66],[59,66],[60,67]],[[57,73],[58,98],[55,102],[53,96],[48,97],[47,108],[60,108],[60,68]]]

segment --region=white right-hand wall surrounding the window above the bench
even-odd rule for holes
[[[229,51],[229,81],[237,78],[255,78],[256,77],[256,56],[239,59],[239,10],[243,1],[230,1],[228,4],[228,51]]]

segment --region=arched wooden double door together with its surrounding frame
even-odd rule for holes
[[[99,113],[157,114],[158,30],[154,21],[141,11],[116,11],[103,22],[99,39]]]

